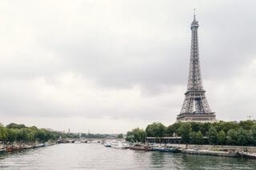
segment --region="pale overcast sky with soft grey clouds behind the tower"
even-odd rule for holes
[[[218,120],[256,118],[256,2],[0,2],[0,122],[71,132],[171,125],[196,8],[202,81]]]

